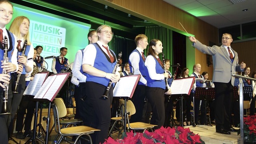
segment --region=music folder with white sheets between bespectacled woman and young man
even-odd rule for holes
[[[132,98],[139,79],[140,75],[121,77],[114,87],[113,97]]]

